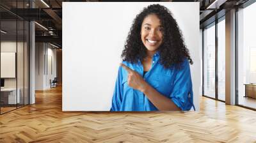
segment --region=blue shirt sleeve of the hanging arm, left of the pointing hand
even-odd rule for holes
[[[121,66],[119,66],[110,111],[119,111],[121,104],[122,104],[124,87],[122,85],[122,71],[121,70],[122,70],[122,68],[121,68]]]

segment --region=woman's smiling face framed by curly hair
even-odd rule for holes
[[[157,15],[150,14],[141,24],[141,40],[148,52],[156,52],[163,42],[163,27]]]

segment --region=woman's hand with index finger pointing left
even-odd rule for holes
[[[138,72],[131,70],[131,68],[129,68],[128,66],[125,66],[125,64],[121,63],[120,65],[128,72],[128,86],[144,92],[147,87],[147,82],[145,82],[141,75]]]

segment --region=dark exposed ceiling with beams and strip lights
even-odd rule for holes
[[[61,47],[62,36],[62,2],[88,2],[89,0],[1,0],[1,22],[8,31],[15,29],[13,20],[35,20],[36,41],[51,42]],[[100,0],[99,0],[100,1]],[[167,1],[167,0],[163,0]],[[224,11],[234,6],[239,6],[248,0],[170,0],[173,2],[200,2],[200,27],[205,26],[212,17],[221,10]],[[216,1],[216,2],[214,2]],[[90,1],[92,2],[92,1]],[[100,1],[108,2],[108,1]],[[159,1],[157,1],[159,2]],[[221,17],[221,15],[219,15]],[[211,20],[212,19],[212,20]],[[14,25],[13,25],[14,24]],[[43,27],[42,27],[43,26]],[[2,26],[3,27],[3,26]],[[22,31],[18,28],[17,33]],[[15,34],[13,31],[13,34]],[[12,33],[12,32],[10,32]]]

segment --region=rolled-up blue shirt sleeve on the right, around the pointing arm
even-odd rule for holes
[[[193,105],[193,88],[188,59],[177,69],[170,98],[181,110],[190,110]]]

